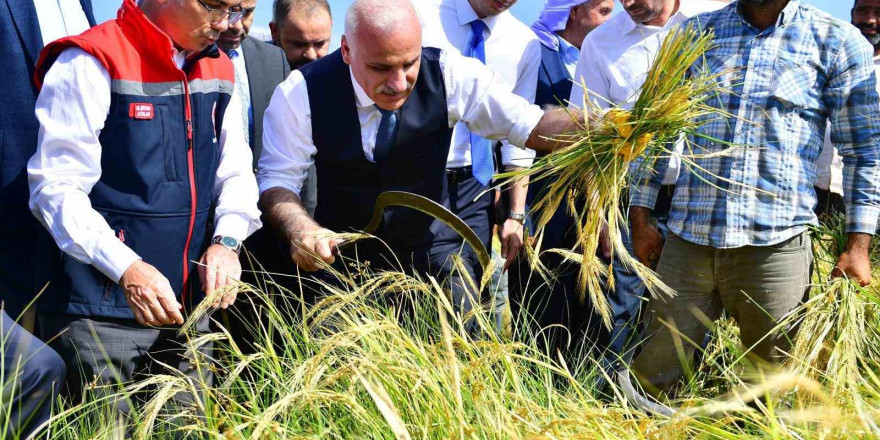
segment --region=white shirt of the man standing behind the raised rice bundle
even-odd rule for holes
[[[680,0],[678,11],[662,27],[636,23],[626,12],[614,15],[587,34],[581,45],[571,105],[583,105],[583,81],[590,100],[600,108],[632,108],[669,31],[697,14],[724,6],[725,3],[714,0]],[[682,139],[675,150],[681,153],[683,147]],[[663,177],[664,185],[675,184],[680,167],[681,158],[673,156]]]

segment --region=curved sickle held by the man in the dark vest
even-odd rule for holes
[[[483,242],[480,241],[480,237],[477,236],[474,230],[471,229],[464,220],[460,219],[443,205],[418,194],[405,191],[386,191],[379,194],[379,196],[376,197],[376,203],[373,206],[373,218],[370,219],[370,223],[364,227],[363,231],[367,234],[376,232],[376,230],[379,229],[379,225],[382,223],[382,214],[385,213],[385,209],[392,206],[415,209],[416,211],[440,220],[443,224],[449,226],[453,231],[460,235],[467,244],[471,245],[484,270],[489,266],[491,259],[489,252],[486,250],[486,246],[483,245]],[[341,245],[341,247],[345,247],[345,244]]]

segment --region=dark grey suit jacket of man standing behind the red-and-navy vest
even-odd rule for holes
[[[290,75],[290,65],[281,48],[264,43],[255,38],[245,38],[241,42],[244,64],[250,84],[251,105],[254,108],[251,149],[254,152],[254,169],[260,152],[263,151],[263,114],[272,99],[275,87]]]

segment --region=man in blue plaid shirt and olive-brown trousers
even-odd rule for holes
[[[791,334],[771,330],[809,288],[807,227],[816,224],[826,121],[846,170],[848,241],[835,275],[871,281],[868,247],[880,213],[880,103],[873,49],[858,29],[799,0],[738,0],[690,23],[715,35],[692,73],[721,74],[729,92],[710,103],[734,116],[706,121],[689,139],[691,152],[735,147],[681,172],[665,245],[648,219],[668,160],[633,190],[636,257],[659,258],[661,279],[678,292],[653,302],[653,336],[635,364],[664,392],[683,374],[676,344],[689,361],[705,317],[722,310],[759,365],[784,356]]]

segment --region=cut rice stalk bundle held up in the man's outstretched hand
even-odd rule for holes
[[[589,292],[591,302],[609,327],[611,313],[602,293],[601,276],[608,267],[594,257],[603,228],[608,230],[612,256],[634,270],[652,294],[674,294],[624,248],[620,232],[626,227],[626,206],[622,200],[632,183],[628,170],[645,175],[657,160],[676,154],[670,144],[681,136],[694,135],[699,126],[714,117],[730,117],[708,104],[711,96],[722,92],[718,75],[689,75],[689,69],[702,59],[713,38],[711,32],[700,33],[691,26],[670,32],[631,110],[615,108],[603,113],[586,90],[582,107],[586,121],[576,122],[574,132],[556,139],[570,145],[537,160],[531,168],[501,175],[511,181],[525,175],[532,181],[553,179],[533,206],[537,213],[535,229],[543,229],[560,207],[572,213],[577,248],[584,256],[579,259],[581,299],[584,292]],[[579,119],[574,114],[572,117]],[[682,156],[682,162],[699,168],[694,162],[696,157]],[[545,278],[552,276],[537,259],[531,263]],[[609,289],[613,283],[609,277]]]

